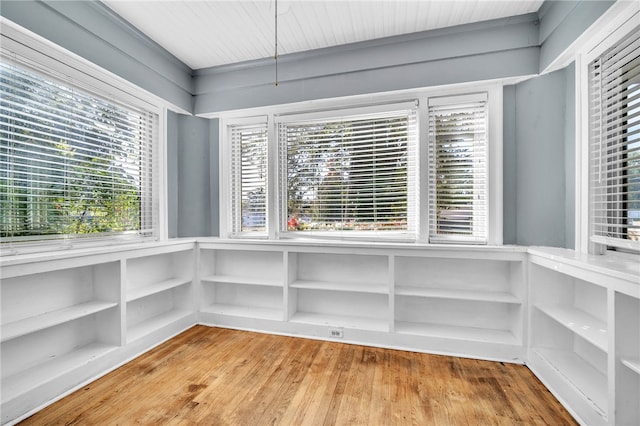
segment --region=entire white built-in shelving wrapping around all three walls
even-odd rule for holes
[[[2,423],[205,324],[527,364],[640,424],[640,264],[571,250],[173,240],[1,259]]]

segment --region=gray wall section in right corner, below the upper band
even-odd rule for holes
[[[573,247],[574,84],[572,65],[505,89],[505,243]]]

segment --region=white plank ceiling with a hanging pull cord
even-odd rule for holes
[[[278,0],[278,54],[536,12],[543,0]],[[275,0],[103,0],[192,69],[273,57]]]

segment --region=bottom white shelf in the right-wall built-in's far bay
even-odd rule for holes
[[[560,376],[590,401],[603,417],[608,406],[607,376],[573,352],[534,349]]]

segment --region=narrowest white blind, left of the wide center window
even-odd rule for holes
[[[267,124],[229,126],[231,232],[267,232]]]

